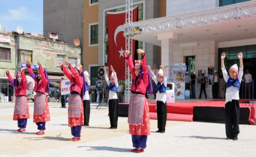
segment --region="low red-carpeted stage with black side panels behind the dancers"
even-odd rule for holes
[[[156,103],[152,100],[149,105],[150,119],[157,119]],[[241,100],[240,100],[241,101]],[[255,102],[255,101],[254,101]],[[128,105],[119,104],[119,116],[128,116]],[[190,99],[179,100],[174,104],[167,104],[167,120],[177,121],[207,121],[215,123],[225,123],[225,99]],[[240,103],[239,124],[256,124],[256,105],[252,103]]]

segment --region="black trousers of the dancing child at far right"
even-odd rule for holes
[[[225,104],[225,127],[227,138],[237,137],[239,134],[239,100],[232,100]]]

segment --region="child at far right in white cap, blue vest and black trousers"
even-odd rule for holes
[[[238,72],[237,64],[231,66],[227,74],[224,59],[226,57],[225,52],[221,54],[221,70],[223,73],[224,80],[226,82],[226,101],[225,101],[225,127],[227,140],[233,139],[238,140],[239,134],[239,89],[243,76],[243,54],[238,53],[240,61],[240,68]]]

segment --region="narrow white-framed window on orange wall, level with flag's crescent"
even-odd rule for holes
[[[89,46],[98,46],[98,22],[89,24]]]

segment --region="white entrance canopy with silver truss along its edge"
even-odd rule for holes
[[[134,22],[133,39],[161,46],[161,39],[176,44],[256,38],[256,2],[216,7]],[[192,46],[194,46],[192,44]]]

